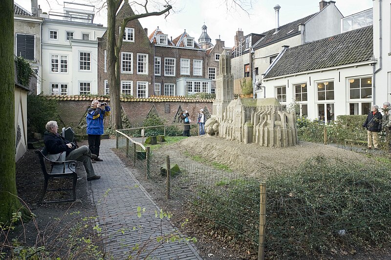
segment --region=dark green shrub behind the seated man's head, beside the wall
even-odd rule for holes
[[[27,95],[27,130],[43,134],[46,131],[45,125],[50,120],[61,120],[57,101]]]

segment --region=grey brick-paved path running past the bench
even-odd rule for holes
[[[167,219],[155,218],[155,211],[160,208],[153,202],[147,191],[135,179],[132,171],[110,150],[115,147],[115,140],[102,140],[100,158],[103,161],[94,163],[96,174],[100,180],[88,181],[91,197],[96,205],[99,225],[105,236],[107,251],[115,260],[135,256],[131,253],[136,244],[144,246],[140,257],[145,259],[158,243],[156,237],[170,234],[175,229]],[[141,218],[137,216],[137,206],[146,208]],[[149,259],[157,260],[202,260],[195,247],[185,242],[163,243],[153,250]]]

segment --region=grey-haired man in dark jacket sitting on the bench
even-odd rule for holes
[[[86,145],[76,148],[75,145],[65,140],[64,137],[57,133],[58,125],[56,121],[48,121],[46,123],[46,130],[43,134],[43,141],[50,154],[50,160],[58,160],[65,153],[65,160],[78,160],[83,162],[87,172],[87,180],[98,180],[101,178],[95,174],[91,162],[91,159],[96,159],[97,156],[91,154],[91,151]]]

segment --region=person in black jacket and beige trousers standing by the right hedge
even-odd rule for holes
[[[377,149],[379,145],[378,132],[382,130],[382,114],[379,113],[379,106],[373,105],[372,111],[369,112],[363,127],[367,129],[368,149]]]

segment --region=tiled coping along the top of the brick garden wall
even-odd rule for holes
[[[110,101],[109,96],[92,96],[92,95],[73,95],[73,96],[63,96],[63,95],[41,95],[46,97],[49,100],[101,100],[101,101]],[[149,101],[149,102],[213,102],[215,99],[194,99],[188,98],[185,96],[151,96],[149,98],[120,98],[121,101],[131,102],[131,101]]]

